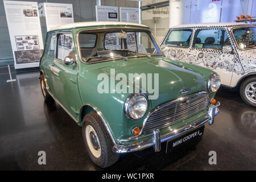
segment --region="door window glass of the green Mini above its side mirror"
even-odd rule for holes
[[[75,48],[71,33],[63,33],[57,36],[57,55],[56,58],[64,60],[65,57],[71,56],[76,59]]]

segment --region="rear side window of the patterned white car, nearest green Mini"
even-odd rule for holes
[[[191,30],[173,30],[168,36],[165,44],[168,46],[189,47]]]

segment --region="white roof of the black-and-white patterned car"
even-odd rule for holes
[[[250,26],[250,23],[195,23],[195,24],[180,24],[171,28],[190,28],[190,27],[234,27],[234,26]]]

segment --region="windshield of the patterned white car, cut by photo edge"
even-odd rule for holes
[[[255,33],[255,27],[242,27],[233,29],[234,39],[236,39],[237,46],[241,49],[255,48]]]

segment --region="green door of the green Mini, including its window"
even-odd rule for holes
[[[56,56],[54,63],[50,65],[52,77],[54,77],[54,96],[69,114],[78,118],[81,102],[77,86],[78,70],[72,32],[59,32],[56,40]],[[73,59],[74,62],[65,64],[66,57]]]

